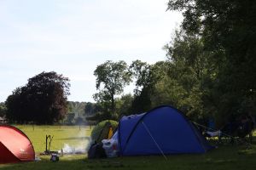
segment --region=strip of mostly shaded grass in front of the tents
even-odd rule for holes
[[[88,160],[85,155],[60,157],[60,161],[51,162],[49,156],[41,157],[42,161],[1,165],[0,169],[256,169],[256,146],[249,150],[243,146],[221,146],[206,154],[171,155],[167,160],[163,156],[127,156]]]

